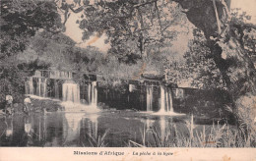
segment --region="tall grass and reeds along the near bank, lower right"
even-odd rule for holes
[[[142,143],[129,140],[129,147],[256,147],[256,134],[244,134],[236,127],[213,124],[210,133],[203,126],[203,130],[195,130],[194,119],[186,122],[186,134],[180,133],[173,125],[170,130],[160,138],[155,127],[143,130]],[[153,143],[147,141],[146,134],[153,136]]]

